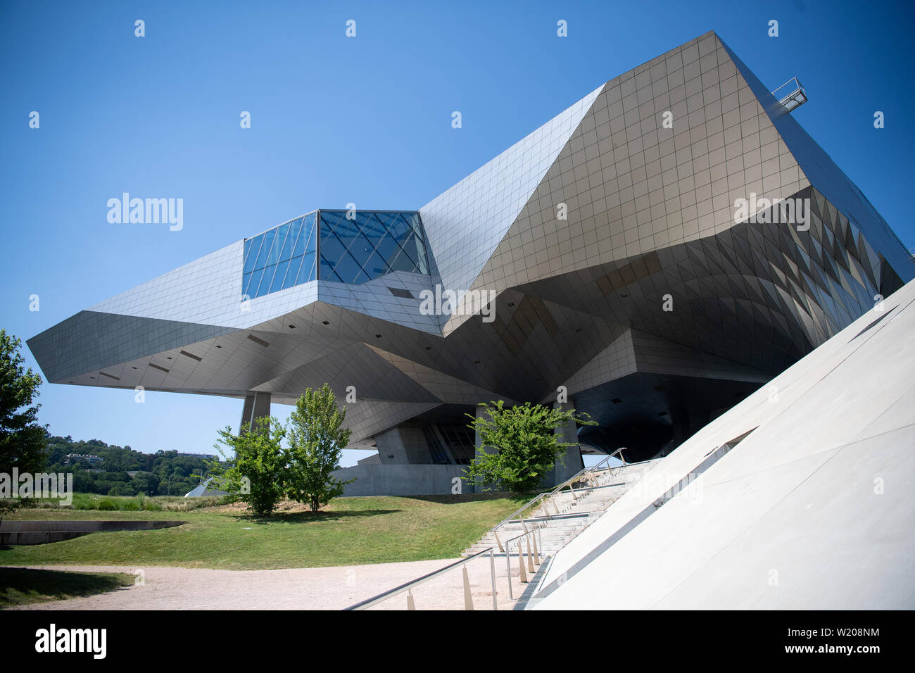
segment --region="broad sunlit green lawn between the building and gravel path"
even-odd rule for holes
[[[188,512],[21,509],[9,518],[180,519],[188,523],[0,548],[0,566],[261,570],[449,559],[526,499],[504,495],[337,498],[318,514],[280,512],[265,519],[227,507]]]

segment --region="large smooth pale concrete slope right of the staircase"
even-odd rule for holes
[[[529,609],[915,608],[913,302],[915,281],[660,461]]]

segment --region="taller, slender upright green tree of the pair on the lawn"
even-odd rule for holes
[[[289,415],[289,461],[286,473],[286,495],[306,503],[312,512],[327,505],[331,498],[343,494],[343,482],[331,472],[339,470],[343,448],[350,441],[350,430],[344,429],[346,409],[328,384],[319,390],[307,388]]]

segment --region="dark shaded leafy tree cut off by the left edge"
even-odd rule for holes
[[[23,367],[22,342],[0,329],[0,472],[41,472],[48,459],[47,426],[38,425],[41,376]]]

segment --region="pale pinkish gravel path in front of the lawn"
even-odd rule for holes
[[[378,563],[365,566],[295,568],[285,570],[205,570],[152,567],[142,569],[142,583],[113,592],[67,601],[34,603],[18,610],[339,610],[444,568],[457,559]],[[512,592],[517,599],[523,587],[512,569]],[[127,572],[124,566],[31,566],[48,570]],[[476,610],[492,609],[489,558],[466,564]],[[450,570],[417,587],[417,610],[463,610],[461,569]],[[511,610],[505,559],[496,559],[499,609]],[[399,594],[373,610],[404,610],[406,594]]]

